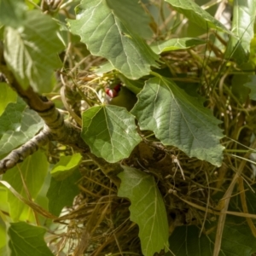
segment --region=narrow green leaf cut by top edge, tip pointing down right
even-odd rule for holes
[[[222,32],[230,33],[218,20],[214,19],[207,11],[201,9],[199,5],[191,0],[166,0],[172,5],[173,9],[185,15],[189,20],[208,30],[214,28]]]

